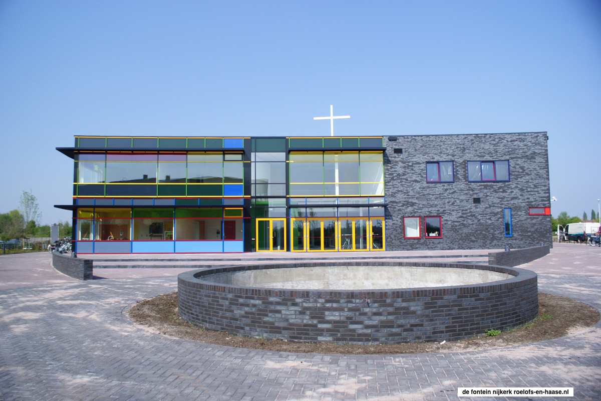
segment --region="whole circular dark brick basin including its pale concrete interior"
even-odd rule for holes
[[[458,263],[232,266],[180,274],[178,308],[194,325],[267,338],[459,340],[537,317],[537,275]]]

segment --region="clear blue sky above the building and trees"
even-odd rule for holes
[[[73,135],[549,133],[601,198],[601,2],[0,0],[0,212],[69,219]]]

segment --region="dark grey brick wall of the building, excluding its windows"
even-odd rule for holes
[[[384,137],[386,249],[552,246],[551,216],[530,216],[528,210],[551,206],[546,132],[389,138]],[[507,159],[510,182],[468,182],[467,161]],[[426,162],[432,161],[454,161],[455,182],[426,183]],[[511,207],[512,237],[505,237],[505,207]],[[404,239],[404,216],[421,217],[420,239]],[[442,238],[426,239],[424,216],[442,216]]]

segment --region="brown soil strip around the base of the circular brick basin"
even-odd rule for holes
[[[227,345],[282,352],[310,354],[415,354],[501,347],[511,344],[551,340],[573,334],[599,322],[599,313],[582,302],[563,296],[538,293],[538,318],[527,325],[489,337],[481,334],[460,341],[402,344],[297,343],[285,340],[242,337],[228,332],[210,331],[191,326],[177,314],[177,292],[159,295],[133,305],[128,311],[136,323],[160,334]]]

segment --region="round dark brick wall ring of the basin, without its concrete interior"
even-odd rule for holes
[[[429,266],[486,269],[507,280],[394,290],[286,290],[203,280],[221,272],[305,266]],[[178,275],[178,310],[209,329],[295,341],[400,343],[459,340],[538,316],[537,275],[524,269],[457,263],[323,262],[233,266]]]

